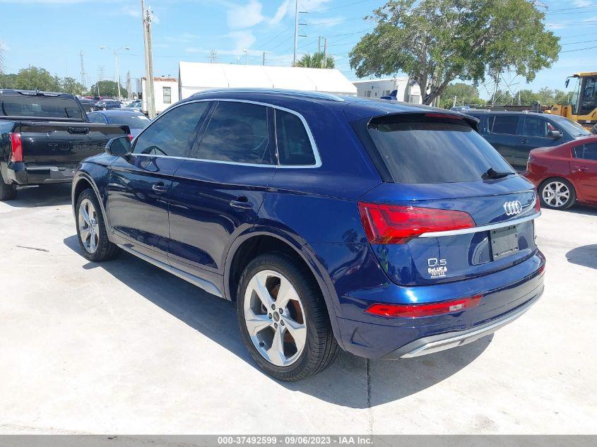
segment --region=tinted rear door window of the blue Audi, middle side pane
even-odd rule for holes
[[[271,165],[268,108],[247,102],[218,102],[197,158]]]

